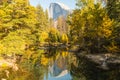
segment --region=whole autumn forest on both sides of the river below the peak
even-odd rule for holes
[[[45,66],[49,60],[40,48],[68,50],[76,45],[77,53],[120,54],[120,0],[76,0],[72,13],[66,19],[60,16],[57,21],[54,27],[55,21],[40,4],[34,7],[29,0],[0,0],[0,60],[3,56],[18,55],[33,66],[39,61]],[[49,58],[54,55],[44,54]]]

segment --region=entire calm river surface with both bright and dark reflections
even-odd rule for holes
[[[101,70],[67,48],[40,49],[0,71],[0,80],[120,80],[120,70]]]

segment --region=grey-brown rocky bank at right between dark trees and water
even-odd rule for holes
[[[77,57],[82,57],[88,62],[95,65],[95,67],[102,70],[114,70],[120,69],[120,56],[118,54],[85,54],[79,53],[76,54]]]

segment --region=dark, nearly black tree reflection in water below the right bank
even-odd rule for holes
[[[82,56],[76,58],[78,64],[70,70],[73,80],[120,80],[120,69],[103,70]]]

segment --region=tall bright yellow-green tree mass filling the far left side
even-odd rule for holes
[[[14,3],[14,4],[13,4]],[[0,53],[23,54],[36,43],[36,10],[28,0],[3,2],[0,8]]]

